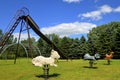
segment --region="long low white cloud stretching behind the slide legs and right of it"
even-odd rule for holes
[[[78,34],[86,34],[89,33],[89,30],[96,27],[95,24],[86,23],[86,22],[73,22],[73,23],[61,23],[55,26],[49,26],[41,28],[41,32],[43,34],[57,34],[60,37],[70,36],[70,35],[78,35]],[[19,37],[19,33],[13,33],[14,38]],[[26,40],[28,38],[27,33],[21,33],[20,40]],[[39,39],[39,36],[35,33],[31,32],[30,37],[34,37],[36,40]]]

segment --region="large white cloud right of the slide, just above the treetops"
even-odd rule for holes
[[[41,32],[43,32],[44,34],[55,33],[60,37],[63,37],[74,34],[88,33],[89,30],[91,30],[94,27],[96,27],[95,24],[86,23],[86,22],[62,23],[55,26],[42,28]]]

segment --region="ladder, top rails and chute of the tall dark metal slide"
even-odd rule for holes
[[[10,38],[11,34],[14,32],[15,28],[17,27],[17,25],[19,24],[19,22],[21,20],[24,20],[29,26],[30,28],[33,29],[33,31],[40,36],[41,38],[43,38],[49,45],[51,45],[51,47],[58,51],[58,53],[60,54],[60,56],[62,58],[67,58],[58,48],[57,46],[51,42],[40,30],[39,30],[39,26],[35,23],[35,21],[30,17],[30,15],[27,13],[26,15],[26,8],[22,8],[21,10],[19,10],[17,17],[16,17],[16,21],[15,23],[13,23],[13,25],[11,25],[12,27],[10,28],[10,30],[8,32],[6,32],[6,35],[4,36],[4,38],[2,39],[2,41],[0,42],[0,53],[3,49],[3,47],[5,46],[7,40]]]

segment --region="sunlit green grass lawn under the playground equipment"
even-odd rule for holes
[[[99,60],[93,68],[88,61],[59,60],[58,67],[50,67],[49,80],[120,80],[120,60]],[[43,69],[31,64],[31,59],[0,60],[0,80],[44,80]]]

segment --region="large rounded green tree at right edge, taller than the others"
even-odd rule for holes
[[[119,27],[120,22],[111,22],[93,28],[88,34],[88,44],[91,46],[90,51],[97,51],[102,55],[108,51],[117,51],[119,46]],[[118,51],[119,52],[119,51]]]

